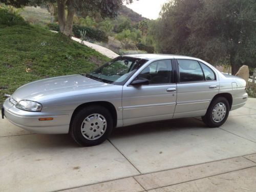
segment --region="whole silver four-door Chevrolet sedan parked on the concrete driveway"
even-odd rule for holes
[[[247,100],[246,81],[179,55],[119,56],[88,74],[42,79],[18,88],[2,115],[25,130],[103,142],[114,127],[202,116],[221,126]],[[170,123],[170,126],[172,124]]]

